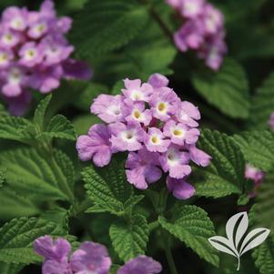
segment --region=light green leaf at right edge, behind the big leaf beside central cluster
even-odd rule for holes
[[[247,131],[235,135],[235,142],[240,147],[246,161],[264,171],[274,167],[274,133],[261,131]]]

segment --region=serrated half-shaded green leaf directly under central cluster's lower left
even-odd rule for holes
[[[124,214],[124,203],[131,198],[132,187],[122,164],[114,159],[107,167],[86,167],[83,171],[87,196],[95,204],[96,211],[101,208],[100,212]]]

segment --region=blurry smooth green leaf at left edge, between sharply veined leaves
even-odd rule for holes
[[[9,186],[0,189],[0,218],[11,219],[23,216],[34,216],[40,212],[30,198],[25,198]],[[1,273],[1,272],[0,272]]]

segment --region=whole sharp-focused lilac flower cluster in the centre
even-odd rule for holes
[[[94,125],[87,135],[78,137],[80,159],[93,159],[97,167],[104,167],[113,153],[128,151],[129,183],[146,189],[165,172],[167,188],[176,198],[191,197],[195,189],[186,181],[190,161],[206,167],[210,160],[196,147],[198,107],[181,101],[159,74],[150,76],[147,83],[139,79],[124,83],[122,95],[100,95],[91,105],[91,112],[108,125]]]

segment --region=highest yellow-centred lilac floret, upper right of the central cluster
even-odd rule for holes
[[[169,87],[161,87],[151,96],[149,105],[154,117],[167,121],[178,109],[179,98]]]

